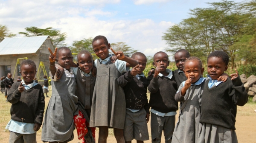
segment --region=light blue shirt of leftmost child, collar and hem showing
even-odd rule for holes
[[[25,84],[24,80],[22,80],[21,82],[23,83],[22,85],[25,87],[26,90],[38,84],[35,81],[33,81],[31,84]],[[34,134],[36,133],[36,131],[34,130],[34,125],[35,123],[23,123],[11,119],[6,125],[6,129],[12,132],[17,132],[19,134]]]

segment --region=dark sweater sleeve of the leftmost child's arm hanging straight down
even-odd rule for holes
[[[41,86],[40,86],[41,87]],[[38,109],[35,112],[35,119],[34,119],[34,123],[38,123],[40,125],[42,125],[43,123],[43,118],[44,118],[44,92],[42,87],[40,88],[40,92],[39,92],[39,98],[38,98]]]

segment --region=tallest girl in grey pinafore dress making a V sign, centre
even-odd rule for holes
[[[138,62],[125,56],[121,51],[113,53],[116,62],[111,62],[108,50],[111,45],[105,36],[96,36],[92,42],[93,51],[100,59],[97,67],[96,83],[93,92],[90,126],[99,127],[99,143],[106,143],[108,128],[114,128],[117,143],[124,143],[123,128],[125,122],[125,93],[117,79],[126,67],[135,67]]]

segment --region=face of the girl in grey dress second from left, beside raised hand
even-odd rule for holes
[[[70,50],[60,50],[58,51],[58,59],[57,62],[61,67],[64,67],[65,69],[69,70],[71,67],[71,64],[73,63],[73,56]]]

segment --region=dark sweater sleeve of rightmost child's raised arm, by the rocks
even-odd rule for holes
[[[244,84],[242,83],[240,76],[234,79],[233,81],[230,80],[232,87],[229,89],[230,98],[234,104],[238,106],[244,106],[247,103],[248,95],[246,93]]]

